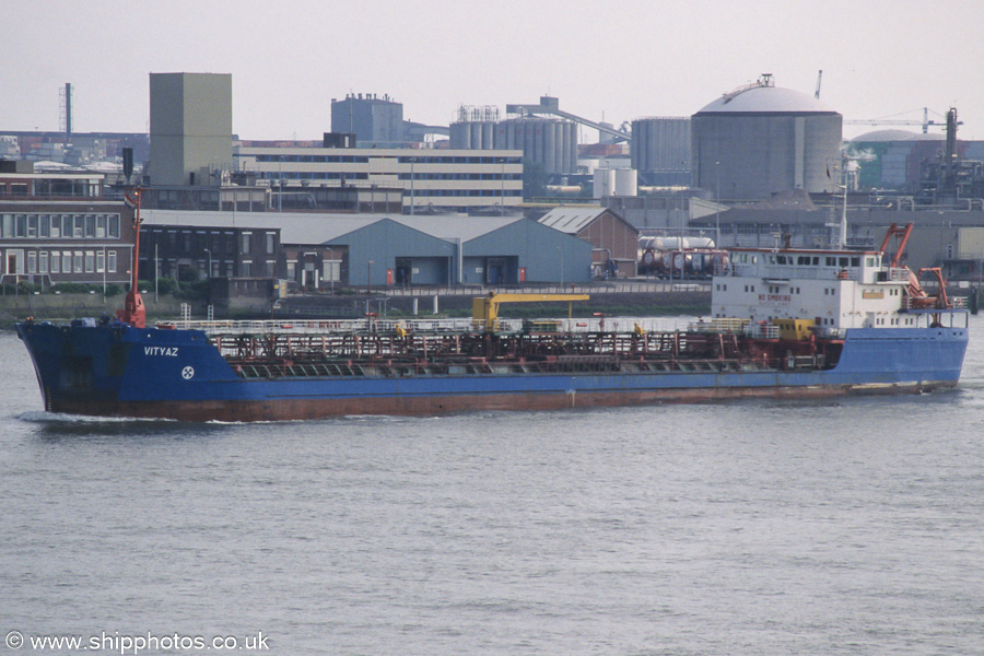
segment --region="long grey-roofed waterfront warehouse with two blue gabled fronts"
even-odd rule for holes
[[[148,234],[179,235],[175,246],[184,250],[176,259],[185,261],[175,268],[208,271],[211,262],[220,276],[276,276],[304,286],[574,283],[591,274],[589,243],[517,216],[147,210],[143,221]],[[245,233],[249,248],[230,253],[229,244]],[[278,235],[280,253],[271,254],[278,250]],[[154,258],[151,243],[141,243],[141,259],[148,262]],[[236,269],[247,260],[248,269]]]

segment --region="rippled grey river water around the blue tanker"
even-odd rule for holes
[[[981,654],[971,332],[924,396],[271,424],[47,414],[4,332],[0,651]]]

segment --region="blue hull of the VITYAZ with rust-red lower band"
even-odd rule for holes
[[[48,323],[16,330],[46,410],[188,421],[919,393],[957,385],[968,343],[967,328],[858,328],[846,331],[830,368],[724,371],[693,361],[692,371],[244,378],[199,330]]]

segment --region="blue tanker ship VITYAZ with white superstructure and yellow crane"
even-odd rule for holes
[[[116,317],[16,330],[45,409],[97,417],[284,421],[925,393],[958,384],[968,311],[939,269],[900,263],[911,231],[892,226],[879,249],[731,249],[712,279],[712,316],[675,329],[499,316],[503,303],[586,298],[542,294],[475,298],[470,320],[147,326],[134,261]],[[933,295],[924,276],[936,279]]]

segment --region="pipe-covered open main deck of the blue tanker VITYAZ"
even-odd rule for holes
[[[639,323],[631,331],[583,324],[573,326],[578,331],[527,321],[496,332],[436,323],[423,330],[402,323],[280,324],[213,327],[209,339],[247,379],[819,371],[833,367],[842,348],[835,339],[783,340],[774,330],[750,335],[719,323],[654,331]]]

